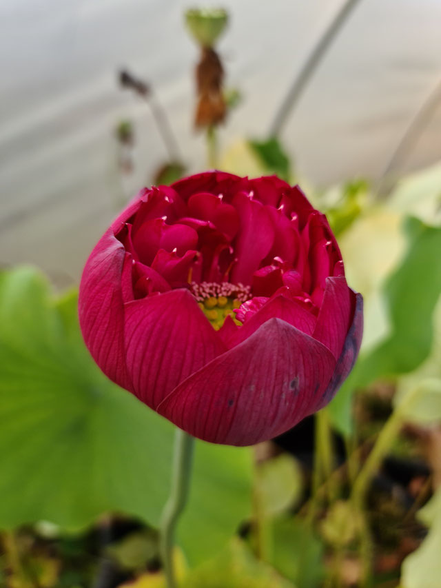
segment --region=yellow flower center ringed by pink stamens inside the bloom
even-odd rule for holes
[[[234,310],[252,298],[251,287],[240,283],[192,282],[190,292],[216,331],[222,327],[227,316],[231,316],[236,325],[241,325]]]

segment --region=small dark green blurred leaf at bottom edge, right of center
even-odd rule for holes
[[[271,563],[299,588],[316,588],[325,577],[324,545],[300,518],[274,521]]]

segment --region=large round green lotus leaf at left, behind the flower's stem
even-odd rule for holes
[[[65,529],[105,511],[157,525],[170,485],[174,427],[100,372],[83,345],[76,295],[55,301],[30,268],[0,276],[0,527]],[[181,525],[196,561],[249,510],[247,449],[196,443]]]

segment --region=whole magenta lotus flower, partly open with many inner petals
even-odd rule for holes
[[[329,403],[362,336],[325,216],[276,176],[223,172],[141,190],[90,254],[79,316],[109,378],[229,445]]]

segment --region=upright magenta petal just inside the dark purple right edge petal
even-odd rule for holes
[[[355,306],[355,294],[343,276],[326,278],[325,294],[318,313],[314,338],[321,341],[336,359],[340,357]]]

